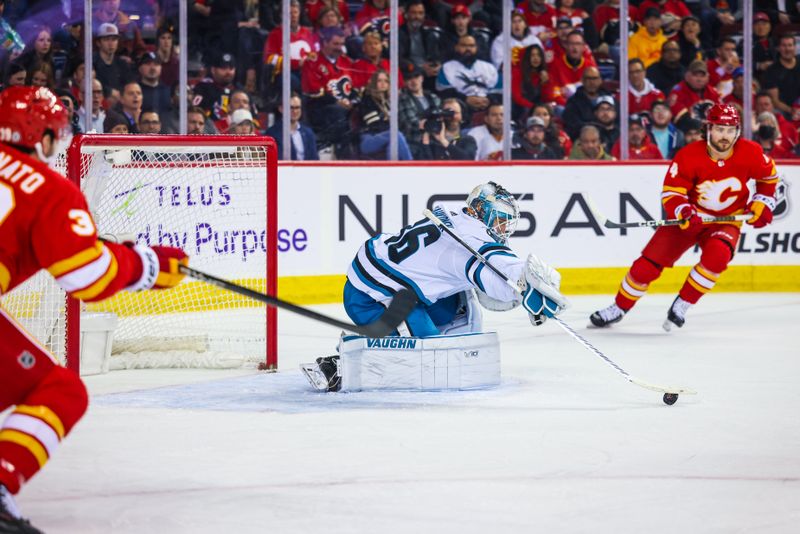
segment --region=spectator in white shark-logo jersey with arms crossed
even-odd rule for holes
[[[502,78],[494,65],[477,58],[478,45],[471,35],[463,35],[456,45],[456,59],[442,65],[436,90],[442,98],[460,98],[470,110],[483,111],[489,95],[502,90]]]

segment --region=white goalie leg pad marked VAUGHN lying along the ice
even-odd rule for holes
[[[432,391],[500,383],[495,332],[422,339],[348,336],[339,354],[342,391]]]

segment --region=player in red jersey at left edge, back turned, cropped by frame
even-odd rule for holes
[[[69,118],[47,88],[0,94],[0,295],[46,269],[75,298],[172,287],[186,254],[99,241],[80,190],[47,161],[69,143]],[[39,532],[13,495],[83,416],[86,389],[0,306],[0,532]]]

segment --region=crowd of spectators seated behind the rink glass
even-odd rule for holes
[[[516,1],[510,42],[501,0],[400,0],[396,80],[389,0],[292,0],[289,61],[279,0],[188,0],[187,43],[177,42],[178,1],[95,0],[87,73],[82,14],[61,0],[0,0],[3,86],[49,87],[76,132],[175,133],[185,53],[190,134],[266,133],[280,144],[288,67],[298,160],[386,159],[392,84],[403,160],[501,159],[506,113],[513,159],[615,159],[622,142],[631,159],[671,158],[701,138],[710,105],[744,105],[742,0],[631,0],[627,57],[618,0]],[[800,3],[753,3],[755,139],[774,157],[795,157]],[[509,48],[512,106],[504,109]],[[621,61],[628,117],[619,113]]]

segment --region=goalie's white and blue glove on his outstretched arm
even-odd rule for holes
[[[527,310],[532,325],[541,325],[548,317],[555,317],[569,305],[559,291],[561,275],[533,254],[528,255],[523,277],[519,281],[520,287],[525,287],[522,307]]]

